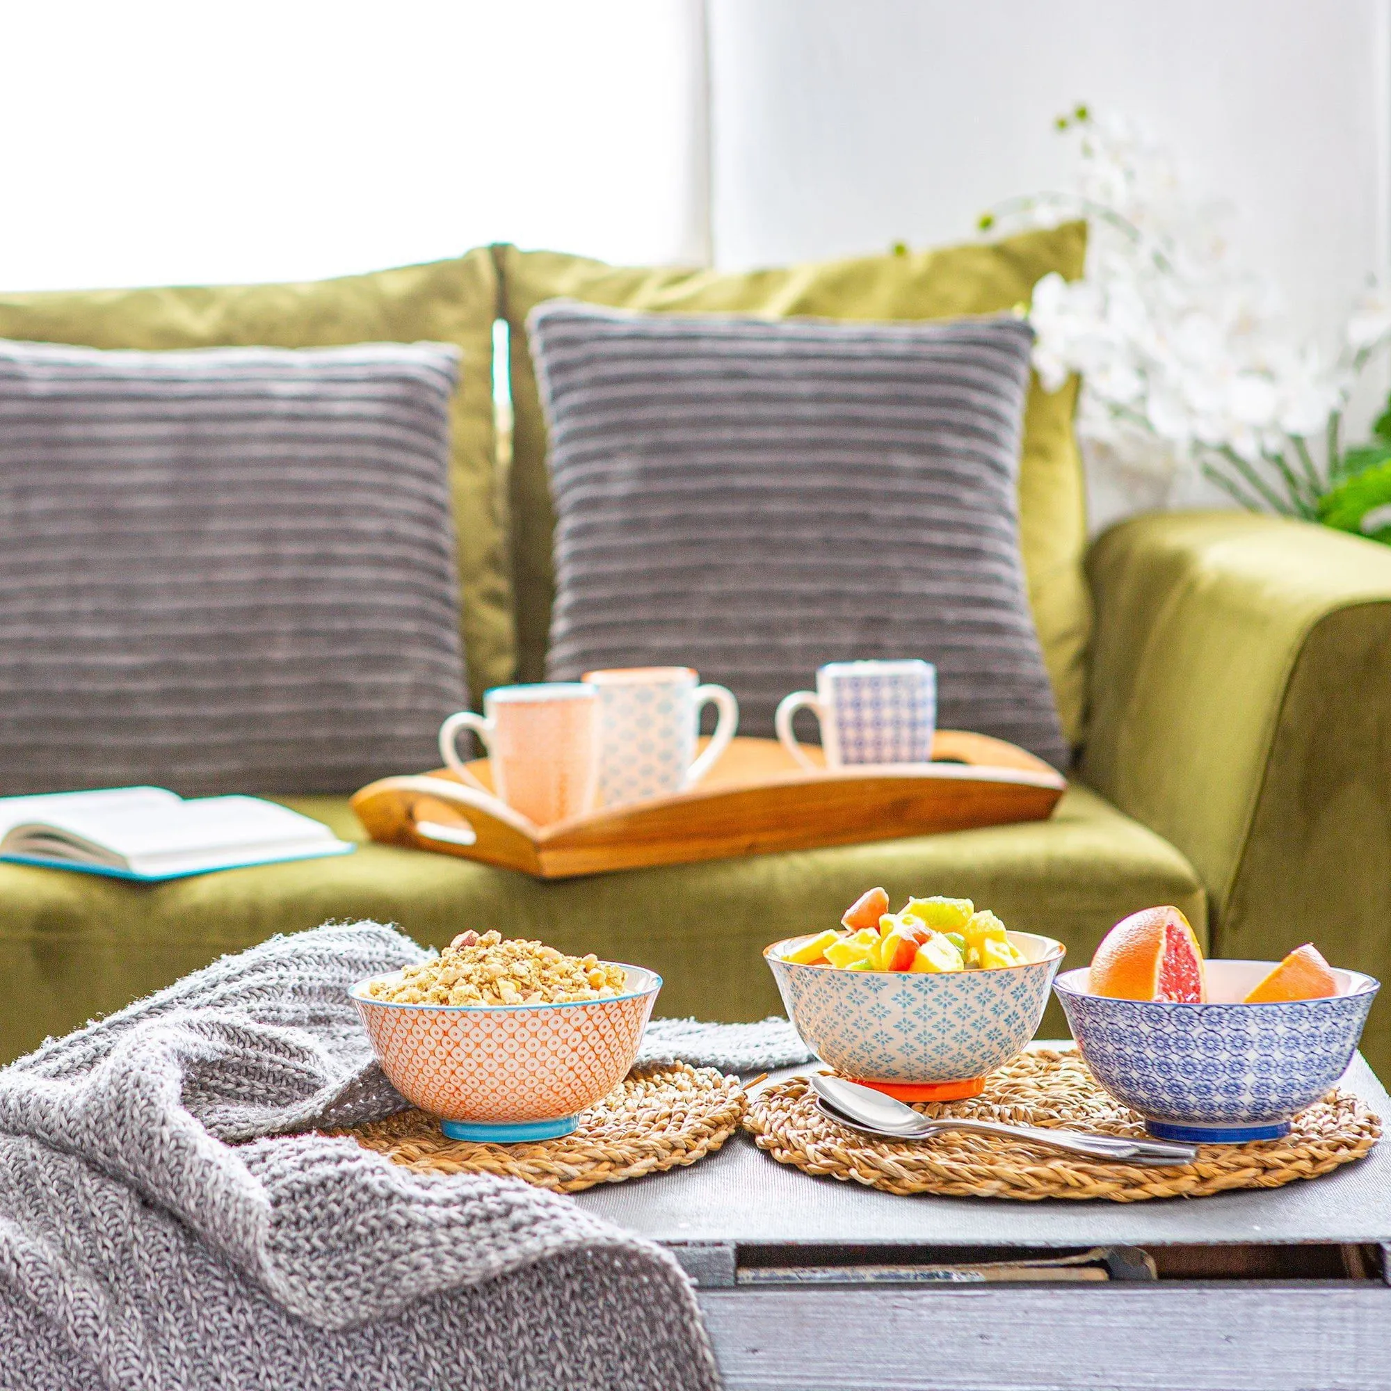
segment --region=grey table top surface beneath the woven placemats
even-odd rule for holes
[[[789,1068],[794,1075],[808,1068]],[[1391,1118],[1359,1056],[1342,1079]],[[1391,1142],[1312,1182],[1202,1199],[1036,1203],[897,1198],[779,1164],[747,1135],[666,1174],[601,1185],[574,1202],[659,1242],[739,1245],[1164,1246],[1391,1241]]]

